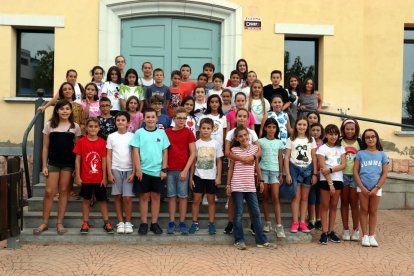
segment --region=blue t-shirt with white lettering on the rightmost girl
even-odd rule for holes
[[[388,164],[388,157],[383,152],[372,153],[367,150],[358,151],[355,159],[359,161],[359,177],[365,188],[371,190],[378,184],[382,175],[382,166]]]

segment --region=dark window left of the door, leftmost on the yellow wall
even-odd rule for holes
[[[18,97],[36,97],[38,88],[53,95],[53,31],[17,30],[16,89]]]

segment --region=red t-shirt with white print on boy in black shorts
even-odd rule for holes
[[[106,157],[106,142],[98,137],[91,141],[88,137],[81,138],[73,150],[81,156],[82,184],[97,184],[102,182],[102,158]]]

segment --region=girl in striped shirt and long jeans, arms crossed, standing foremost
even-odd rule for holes
[[[233,144],[231,152],[240,158],[249,158],[257,156],[259,149],[257,145],[249,142],[249,131],[245,126],[238,126],[234,131],[236,142]],[[243,235],[243,199],[250,209],[250,218],[253,223],[255,240],[257,247],[276,248],[275,244],[267,241],[263,234],[263,225],[260,219],[259,203],[256,194],[255,172],[259,178],[260,192],[263,192],[263,180],[257,158],[253,163],[244,163],[241,161],[230,161],[230,168],[227,178],[226,193],[232,196],[234,202],[234,246],[237,249],[245,250]]]

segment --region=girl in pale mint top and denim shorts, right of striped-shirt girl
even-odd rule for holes
[[[269,118],[264,123],[263,138],[259,139],[262,150],[260,159],[260,169],[264,181],[263,190],[263,215],[265,217],[264,232],[272,230],[272,223],[269,216],[269,189],[273,201],[273,209],[276,217],[276,235],[278,238],[285,238],[285,232],[282,225],[279,202],[279,185],[283,183],[283,143],[277,137],[279,136],[279,125],[275,119]]]

